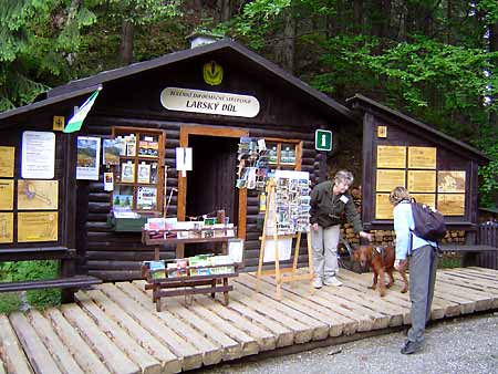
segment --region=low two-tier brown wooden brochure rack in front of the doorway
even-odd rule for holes
[[[230,239],[236,237],[236,228],[201,228],[195,230],[143,230],[142,241],[146,246],[154,246],[154,259],[159,260],[159,247],[163,245],[178,245],[176,257],[181,259],[184,257],[185,243],[221,243],[221,253],[227,253],[227,243]],[[218,232],[212,237],[206,237],[206,232]],[[178,232],[187,235],[187,237],[178,238]],[[170,237],[173,236],[173,237]],[[191,237],[195,236],[195,237]],[[220,270],[226,264],[221,266],[201,266],[201,267],[183,267],[185,276],[166,278],[166,276],[155,276],[154,270],[151,270],[146,264],[142,266],[142,276],[147,283],[146,290],[153,290],[153,302],[156,303],[156,310],[160,312],[160,299],[166,297],[177,295],[193,295],[193,294],[210,294],[215,298],[216,292],[224,293],[224,302],[228,304],[228,292],[234,290],[232,285],[228,284],[228,279],[238,277],[238,263],[229,264],[232,268],[229,272],[214,273],[215,270]],[[206,276],[190,276],[191,271],[197,273],[207,272]]]

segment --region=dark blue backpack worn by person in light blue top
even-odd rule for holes
[[[412,206],[415,228],[413,232],[425,240],[438,241],[446,236],[445,219],[440,212],[433,210],[425,204],[417,202],[414,198],[409,201]]]

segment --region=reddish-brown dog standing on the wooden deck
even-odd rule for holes
[[[381,297],[385,295],[385,289],[390,288],[394,283],[393,271],[394,269],[394,260],[395,260],[395,249],[391,246],[385,247],[373,247],[369,246],[360,246],[353,252],[354,261],[359,261],[363,269],[370,267],[373,270],[373,284],[369,287],[372,290],[375,290],[378,282],[378,291]],[[402,289],[402,293],[408,291],[408,280],[406,279],[406,267],[400,269],[400,276],[403,278],[403,282],[405,285]],[[384,274],[387,273],[390,276],[390,282],[385,284]]]

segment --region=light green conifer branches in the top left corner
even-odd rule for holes
[[[0,111],[31,103],[51,84],[74,77],[70,55],[80,28],[95,17],[71,0],[6,0],[0,7]]]

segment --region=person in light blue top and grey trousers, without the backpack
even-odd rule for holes
[[[390,194],[394,206],[394,231],[396,233],[396,261],[394,267],[406,268],[409,261],[409,300],[412,301],[412,328],[401,350],[403,354],[422,351],[424,332],[430,319],[437,269],[437,242],[415,235],[415,219],[409,193],[405,187],[396,187]]]

